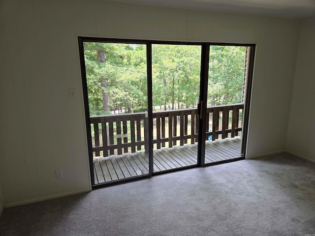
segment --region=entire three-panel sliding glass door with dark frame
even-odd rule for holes
[[[93,186],[244,158],[253,45],[79,37]]]

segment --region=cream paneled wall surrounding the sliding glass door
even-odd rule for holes
[[[5,207],[90,189],[78,35],[257,43],[247,151],[254,157],[284,150],[299,30],[298,20],[106,0],[2,0]]]

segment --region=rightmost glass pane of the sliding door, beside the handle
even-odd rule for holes
[[[241,157],[249,48],[210,46],[205,163]]]

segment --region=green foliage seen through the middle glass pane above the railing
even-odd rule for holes
[[[199,96],[201,47],[152,45],[153,105],[196,104]]]

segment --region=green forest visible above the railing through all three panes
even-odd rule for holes
[[[147,110],[145,44],[84,42],[90,115]],[[207,106],[242,101],[246,47],[211,46]],[[201,46],[152,45],[153,110],[196,107]]]

